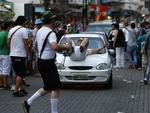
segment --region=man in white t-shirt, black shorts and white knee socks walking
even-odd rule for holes
[[[46,11],[43,15],[44,25],[37,32],[37,64],[44,86],[23,102],[24,113],[30,112],[30,106],[33,101],[48,93],[51,93],[51,113],[58,113],[59,88],[61,83],[55,64],[55,57],[56,51],[69,50],[69,47],[57,44],[57,37],[53,31],[55,17],[52,12]]]

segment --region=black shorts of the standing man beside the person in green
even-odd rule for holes
[[[24,77],[26,75],[26,58],[11,56],[12,66],[17,76]]]

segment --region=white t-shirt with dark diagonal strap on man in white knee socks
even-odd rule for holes
[[[37,41],[37,47],[38,47],[38,58],[40,58],[40,51],[42,49],[44,40],[50,31],[52,31],[50,28],[43,26],[37,32],[36,41]],[[55,57],[56,52],[51,48],[51,43],[53,42],[57,43],[57,37],[54,32],[50,33],[48,37],[48,41],[41,55],[41,59],[48,60],[48,59],[53,59]]]

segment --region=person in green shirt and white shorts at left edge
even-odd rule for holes
[[[7,45],[8,30],[10,22],[5,22],[0,31],[0,88],[9,89],[7,77],[10,75],[11,59],[9,57],[9,47]]]

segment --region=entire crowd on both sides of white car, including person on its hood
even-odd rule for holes
[[[8,77],[12,77],[12,95],[23,97],[28,94],[25,90],[25,76],[27,74],[42,77],[43,88],[40,88],[30,98],[24,101],[24,112],[29,113],[30,106],[40,96],[51,93],[51,113],[58,113],[58,100],[60,80],[55,57],[57,51],[70,51],[70,45],[58,45],[64,34],[83,32],[79,24],[72,27],[71,24],[63,25],[55,22],[56,16],[47,11],[43,19],[36,19],[34,23],[19,16],[15,22],[3,22],[0,28],[0,89],[10,89]],[[129,69],[144,71],[144,83],[148,84],[150,78],[150,19],[144,19],[140,26],[136,22],[124,22],[123,28],[118,23],[112,23],[109,33],[112,48],[115,49],[116,65],[114,68],[125,67],[125,54],[128,59]],[[110,45],[109,44],[109,45]],[[79,40],[78,47],[74,51],[87,54],[88,39]],[[104,45],[107,47],[107,45]],[[103,48],[104,48],[103,47]],[[90,54],[97,53],[102,48],[90,50]],[[70,57],[73,60],[81,60],[83,55],[75,54]],[[85,57],[83,57],[85,59]],[[51,75],[51,76],[48,76]]]

